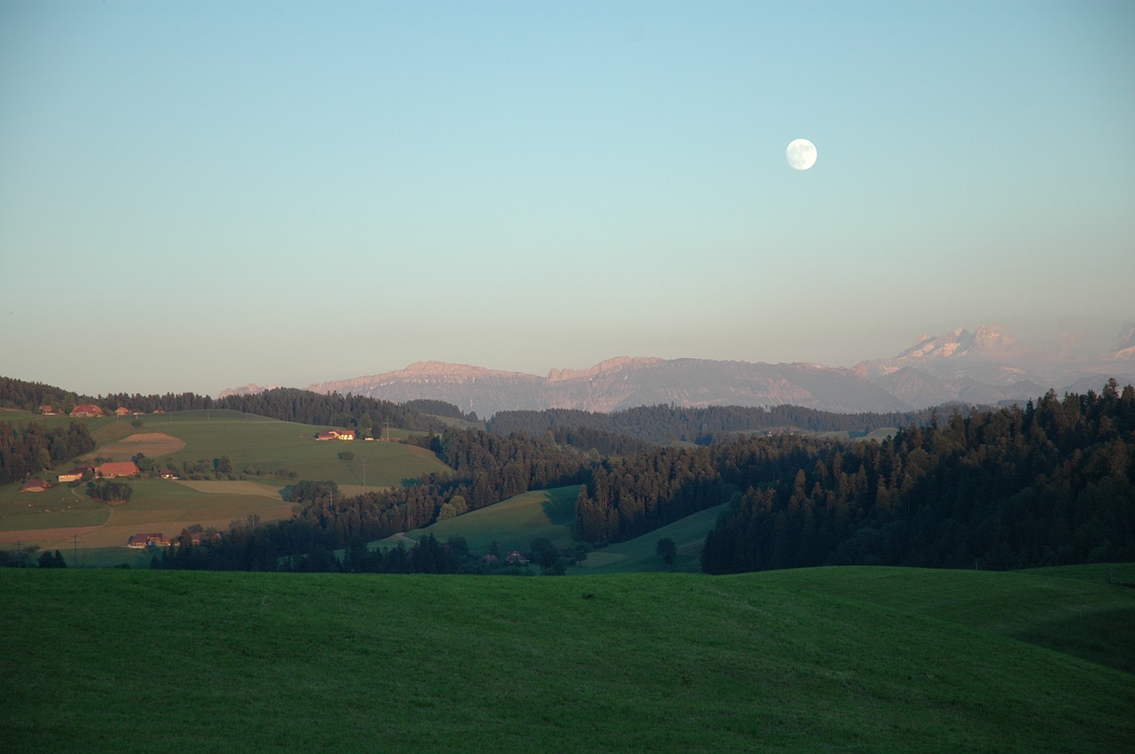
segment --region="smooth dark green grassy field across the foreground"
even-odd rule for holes
[[[143,740],[205,752],[1118,752],[1135,742],[1135,676],[1016,636],[1104,605],[1130,619],[1135,591],[1043,571],[6,569],[0,596],[9,752]]]

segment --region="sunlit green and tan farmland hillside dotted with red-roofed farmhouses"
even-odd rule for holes
[[[69,417],[37,417],[26,412],[6,412],[6,421],[43,421],[68,424]],[[317,441],[325,427],[241,414],[230,410],[196,410],[151,414],[132,418],[83,420],[98,447],[84,458],[129,460],[142,452],[165,466],[171,461],[201,460],[210,468],[215,458],[228,456],[235,478],[171,481],[128,480],[134,493],[111,508],[83,494],[83,488],[60,485],[42,493],[22,493],[18,484],[0,486],[0,547],[14,549],[36,544],[58,549],[68,561],[102,565],[134,562],[137,553],[124,545],[132,534],[176,534],[191,524],[217,528],[235,519],[259,516],[261,520],[287,517],[292,505],[281,490],[299,480],[330,480],[346,494],[396,486],[424,473],[448,473],[448,467],[422,448],[397,442]],[[395,438],[404,432],[392,430]],[[340,459],[342,452],[354,457]],[[45,476],[53,478],[79,460],[61,464]],[[111,551],[102,552],[102,548]],[[145,557],[149,561],[149,556]]]

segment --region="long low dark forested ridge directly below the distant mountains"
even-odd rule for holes
[[[569,408],[543,412],[498,412],[488,422],[494,434],[523,432],[536,437],[547,431],[594,430],[622,434],[646,442],[696,442],[711,444],[737,432],[804,430],[809,432],[864,432],[925,424],[934,409],[884,414],[840,414],[800,406],[642,406],[612,414]],[[941,410],[947,410],[943,407]]]

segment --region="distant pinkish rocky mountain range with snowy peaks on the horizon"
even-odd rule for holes
[[[429,398],[486,418],[501,410],[575,408],[614,412],[636,406],[777,406],[833,412],[893,412],[949,401],[997,404],[1036,399],[1049,389],[1099,391],[1109,378],[1135,380],[1135,328],[1115,349],[1092,358],[1018,346],[995,328],[924,334],[893,358],[852,368],[698,358],[612,358],[587,370],[546,376],[481,366],[418,362],[403,370],[309,386],[317,392],[394,403]],[[226,390],[257,392],[250,384]]]

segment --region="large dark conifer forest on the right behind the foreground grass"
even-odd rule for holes
[[[706,571],[1135,560],[1135,391],[1113,380],[808,455],[746,488],[706,540]]]

